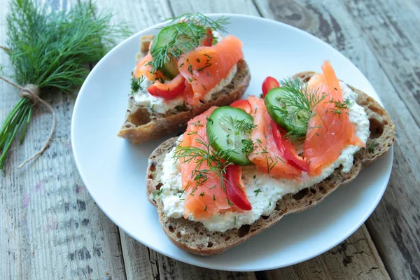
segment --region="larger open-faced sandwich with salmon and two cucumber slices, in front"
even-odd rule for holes
[[[148,200],[179,248],[214,255],[313,207],[393,144],[390,116],[323,73],[267,78],[261,97],[213,106],[151,155]]]

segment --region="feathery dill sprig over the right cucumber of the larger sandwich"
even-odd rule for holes
[[[277,98],[283,106],[270,105],[273,111],[279,111],[283,118],[292,127],[286,137],[290,141],[300,139],[306,134],[309,120],[316,114],[314,108],[325,98],[325,94],[318,93],[317,89],[311,89],[307,83],[298,78],[286,78],[280,82],[283,95]],[[292,125],[301,123],[302,126]]]

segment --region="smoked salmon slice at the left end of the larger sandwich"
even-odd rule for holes
[[[188,122],[186,132],[181,139],[180,147],[202,148],[207,150],[207,118],[216,109],[211,107]],[[211,149],[211,148],[210,148]],[[221,186],[221,177],[212,172],[204,160],[197,163],[199,158],[180,158],[181,181],[186,193],[184,204],[184,218],[193,214],[197,220],[203,220],[223,211],[241,211],[227,199],[225,190]],[[199,170],[200,172],[197,172]]]

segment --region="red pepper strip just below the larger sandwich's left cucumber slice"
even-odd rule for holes
[[[246,197],[245,188],[241,180],[242,169],[239,165],[228,165],[226,167],[225,178],[228,181],[226,186],[226,195],[230,202],[242,210],[251,210],[251,203]]]

